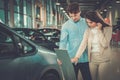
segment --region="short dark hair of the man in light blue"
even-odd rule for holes
[[[69,4],[68,8],[67,8],[67,11],[68,11],[68,13],[78,13],[78,12],[80,12],[79,4],[76,3],[76,2]]]

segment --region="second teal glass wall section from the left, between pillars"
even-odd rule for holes
[[[15,27],[33,27],[31,0],[14,0],[14,24]]]

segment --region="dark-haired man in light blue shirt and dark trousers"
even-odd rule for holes
[[[70,58],[74,58],[79,45],[83,39],[85,30],[88,28],[84,18],[80,17],[80,7],[77,3],[72,3],[68,6],[70,19],[62,25],[60,37],[60,49],[66,49]],[[73,63],[76,78],[80,69],[83,80],[91,80],[87,49],[80,57],[77,64]]]

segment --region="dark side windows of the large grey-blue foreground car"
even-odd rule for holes
[[[0,57],[9,57],[16,54],[32,54],[35,52],[35,49],[35,46],[19,35],[0,30]]]

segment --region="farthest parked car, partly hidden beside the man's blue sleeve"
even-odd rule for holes
[[[56,45],[59,46],[60,32],[61,32],[60,29],[44,27],[44,28],[38,29],[38,31],[43,33],[48,40],[55,42]]]

